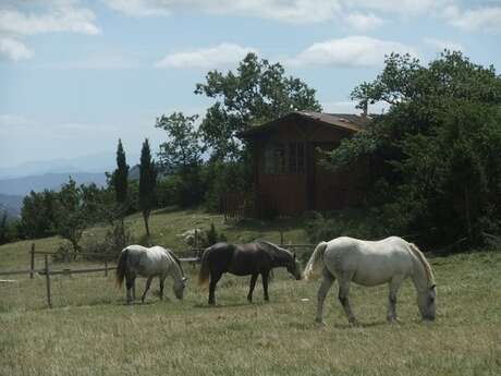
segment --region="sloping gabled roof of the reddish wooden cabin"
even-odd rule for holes
[[[283,123],[291,118],[303,118],[306,120],[313,120],[317,123],[331,125],[337,129],[342,129],[352,133],[363,131],[370,122],[369,117],[363,117],[353,113],[325,113],[325,112],[313,112],[313,111],[294,111],[282,118],[269,121],[265,124],[253,126],[247,131],[241,133],[243,137],[252,137],[254,135],[268,133],[279,123]]]

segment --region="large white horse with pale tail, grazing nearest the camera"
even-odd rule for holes
[[[306,265],[305,279],[310,279],[320,269],[323,280],[317,296],[318,323],[323,323],[323,301],[334,279],[338,279],[339,300],[350,323],[356,323],[349,302],[351,281],[362,286],[389,283],[387,318],[390,323],[396,320],[396,293],[407,277],[412,278],[416,288],[423,319],[435,319],[437,292],[431,267],[417,246],[402,238],[372,242],[342,236],[320,242]]]

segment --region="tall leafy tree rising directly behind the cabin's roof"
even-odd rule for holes
[[[286,76],[280,63],[248,53],[236,72],[207,73],[196,94],[216,99],[207,110],[200,131],[216,160],[237,160],[244,147],[237,133],[294,110],[320,111],[315,89],[300,78]]]

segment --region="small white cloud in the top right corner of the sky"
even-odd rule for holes
[[[461,11],[457,7],[449,7],[444,11],[449,24],[466,32],[501,31],[501,7],[484,7],[475,10]]]

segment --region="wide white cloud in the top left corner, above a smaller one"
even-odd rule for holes
[[[0,32],[19,35],[71,32],[88,35],[100,34],[95,14],[85,8],[61,5],[46,13],[23,13],[12,9],[0,9]]]

